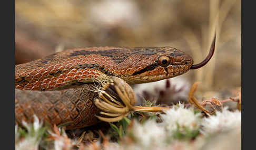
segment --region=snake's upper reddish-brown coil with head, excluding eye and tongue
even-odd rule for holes
[[[167,67],[158,65],[167,56]],[[15,66],[15,86],[23,90],[50,90],[93,79],[115,76],[127,83],[147,83],[185,73],[193,59],[171,47],[88,47],[65,50],[44,59]],[[166,69],[165,69],[166,68]]]

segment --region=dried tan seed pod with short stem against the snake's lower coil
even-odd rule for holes
[[[163,112],[168,108],[134,106],[135,94],[124,80],[113,77],[112,81],[99,90],[99,98],[94,99],[94,104],[101,110],[96,117],[102,121],[120,121],[131,111],[137,112]]]

